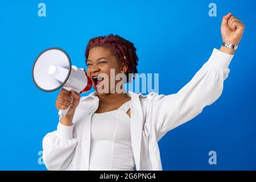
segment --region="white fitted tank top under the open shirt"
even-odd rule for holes
[[[130,103],[92,115],[89,170],[134,171],[130,117],[126,113]]]

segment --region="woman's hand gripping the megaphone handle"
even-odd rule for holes
[[[66,126],[73,125],[73,116],[75,114],[76,107],[79,105],[80,95],[74,91],[68,91],[66,89],[61,89],[59,95],[56,99],[56,109],[67,109],[69,106],[68,113],[64,118],[60,118],[60,123]]]

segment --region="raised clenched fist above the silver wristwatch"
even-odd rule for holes
[[[223,42],[232,43],[238,45],[245,31],[245,25],[229,13],[224,16],[221,23],[221,35]]]

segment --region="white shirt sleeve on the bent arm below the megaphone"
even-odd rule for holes
[[[73,125],[60,122],[57,130],[43,138],[43,160],[48,170],[69,170],[75,154],[77,139],[73,138]]]

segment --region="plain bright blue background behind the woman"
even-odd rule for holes
[[[38,4],[46,3],[46,17]],[[208,15],[209,3],[217,17]],[[85,68],[90,38],[117,34],[135,44],[139,73],[159,73],[159,93],[184,86],[220,48],[222,16],[231,11],[246,25],[230,64],[224,91],[192,121],[159,142],[164,170],[256,169],[255,1],[1,1],[2,170],[45,170],[38,152],[44,135],[56,129],[57,92],[32,82],[36,56],[48,47],[68,52]],[[85,93],[84,95],[86,95]],[[209,165],[208,152],[217,152]]]

